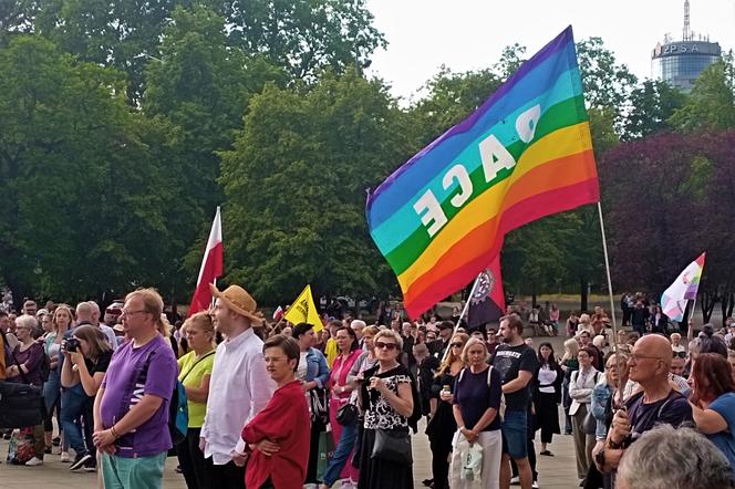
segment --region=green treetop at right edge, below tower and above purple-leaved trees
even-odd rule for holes
[[[735,63],[732,52],[702,72],[686,103],[674,112],[670,122],[685,132],[735,127]]]

